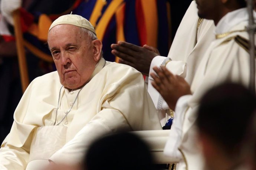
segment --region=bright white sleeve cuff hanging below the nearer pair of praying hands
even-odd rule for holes
[[[176,104],[173,125],[171,126],[170,136],[164,148],[164,154],[175,159],[181,159],[181,153],[178,150],[182,140],[182,125],[185,113],[188,109],[188,101],[192,95],[181,96]]]

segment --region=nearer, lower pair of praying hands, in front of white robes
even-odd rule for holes
[[[151,73],[154,79],[153,87],[163,96],[170,109],[175,109],[176,103],[181,96],[191,94],[190,85],[184,78],[173,75],[167,68],[161,66],[153,68],[157,75]]]

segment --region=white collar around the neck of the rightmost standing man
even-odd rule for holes
[[[253,16],[256,18],[256,13],[253,11]],[[215,33],[216,34],[223,34],[227,33],[231,30],[232,27],[236,26],[237,24],[248,21],[249,14],[247,8],[240,8],[238,10],[234,10],[232,12],[227,13],[224,17],[222,17],[219,23],[216,26]]]

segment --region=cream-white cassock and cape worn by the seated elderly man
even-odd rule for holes
[[[102,58],[81,91],[60,90],[61,86],[56,71],[31,82],[1,145],[1,170],[40,169],[49,159],[79,163],[96,137],[119,130],[161,129],[143,76],[132,67]],[[53,126],[58,99],[57,123],[76,96],[68,116],[59,126]]]

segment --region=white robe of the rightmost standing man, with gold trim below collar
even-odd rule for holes
[[[254,17],[256,13],[254,12]],[[180,149],[186,166],[180,169],[204,169],[203,158],[197,142],[195,127],[196,112],[201,96],[211,87],[221,82],[231,81],[249,87],[249,38],[246,32],[248,14],[246,8],[232,11],[219,21],[216,26],[216,40],[208,48],[198,65],[191,84],[193,95],[181,97],[175,113],[182,117],[179,140],[168,140],[165,151],[168,154],[174,147]],[[178,138],[177,138],[178,139]]]

